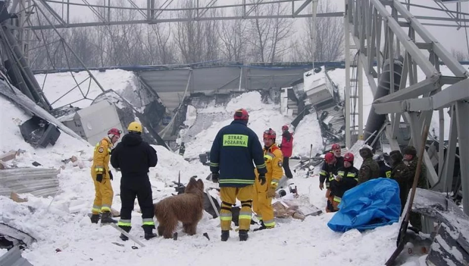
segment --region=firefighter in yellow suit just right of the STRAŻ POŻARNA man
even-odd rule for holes
[[[274,209],[272,208],[272,199],[275,197],[278,181],[283,175],[282,159],[284,156],[275,144],[276,133],[268,129],[263,134],[264,139],[264,161],[267,167],[266,183],[261,185],[259,179],[256,179],[254,185],[255,197],[252,202],[257,219],[261,222],[259,228],[254,231],[271,229],[275,227]],[[259,173],[256,171],[256,176]]]

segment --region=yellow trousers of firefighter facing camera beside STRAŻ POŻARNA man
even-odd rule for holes
[[[254,184],[256,197],[252,202],[256,218],[264,222],[267,228],[275,227],[274,208],[272,207],[272,198],[267,197],[267,188],[270,182],[261,185],[258,181]]]

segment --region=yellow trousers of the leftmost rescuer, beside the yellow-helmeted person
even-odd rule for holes
[[[93,179],[95,190],[92,213],[99,214],[103,211],[111,211],[114,191],[109,174],[104,175],[101,182],[96,181],[96,177],[93,177],[93,174],[91,178]]]

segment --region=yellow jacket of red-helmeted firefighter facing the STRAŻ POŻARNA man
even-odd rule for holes
[[[277,144],[275,143],[272,146],[270,146],[269,149],[266,149],[266,147],[264,147],[263,151],[264,151],[264,161],[266,163],[266,168],[267,168],[266,183],[264,184],[264,186],[265,186],[265,191],[267,191],[267,188],[271,184],[277,185],[280,178],[282,178],[283,155],[282,155],[282,151],[278,148]],[[255,170],[255,173],[256,173],[256,186],[260,186],[259,179],[257,178],[259,176],[257,169]]]

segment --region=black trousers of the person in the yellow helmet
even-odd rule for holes
[[[150,180],[143,184],[127,185],[124,182],[120,184],[120,201],[122,207],[120,208],[120,219],[130,220],[132,217],[132,210],[137,197],[138,205],[142,211],[142,219],[153,218],[155,215],[153,208],[153,193]]]

